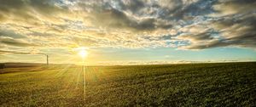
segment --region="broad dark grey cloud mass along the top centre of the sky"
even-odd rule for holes
[[[193,20],[195,16],[209,14],[214,1],[197,2],[181,0],[133,0],[133,1],[87,1],[79,2],[97,26],[154,31],[171,29],[180,22]]]

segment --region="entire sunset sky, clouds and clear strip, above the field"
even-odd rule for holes
[[[0,62],[256,61],[255,0],[0,0]],[[87,57],[79,52],[86,50]]]

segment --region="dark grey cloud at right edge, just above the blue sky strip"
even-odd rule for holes
[[[217,47],[243,47],[256,48],[256,14],[245,14],[236,18],[224,18],[212,22],[213,28],[218,30],[219,38],[213,40],[212,32],[206,31],[199,35],[191,36],[189,49],[217,48]],[[212,41],[213,40],[213,41]],[[200,44],[201,42],[207,42]]]

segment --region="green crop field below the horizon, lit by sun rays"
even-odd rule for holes
[[[256,106],[256,63],[6,68],[0,87],[0,106]]]

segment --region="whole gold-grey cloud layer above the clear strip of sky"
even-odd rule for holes
[[[0,0],[0,53],[82,46],[256,48],[255,5],[255,0]]]

